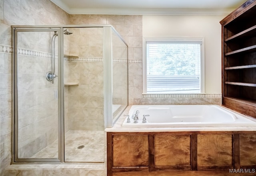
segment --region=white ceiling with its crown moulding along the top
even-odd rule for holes
[[[51,0],[69,14],[228,15],[247,0]]]

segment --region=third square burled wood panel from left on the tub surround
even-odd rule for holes
[[[232,168],[232,135],[198,135],[197,142],[198,170],[206,166],[214,169],[226,168],[223,166]]]

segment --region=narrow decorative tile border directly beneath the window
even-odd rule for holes
[[[142,94],[142,98],[222,98],[222,94]]]

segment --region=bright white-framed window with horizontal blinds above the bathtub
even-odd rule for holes
[[[202,93],[202,41],[146,40],[144,93]]]

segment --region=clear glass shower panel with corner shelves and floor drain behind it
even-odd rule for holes
[[[64,161],[104,162],[103,27],[68,30],[72,35],[63,39]]]

